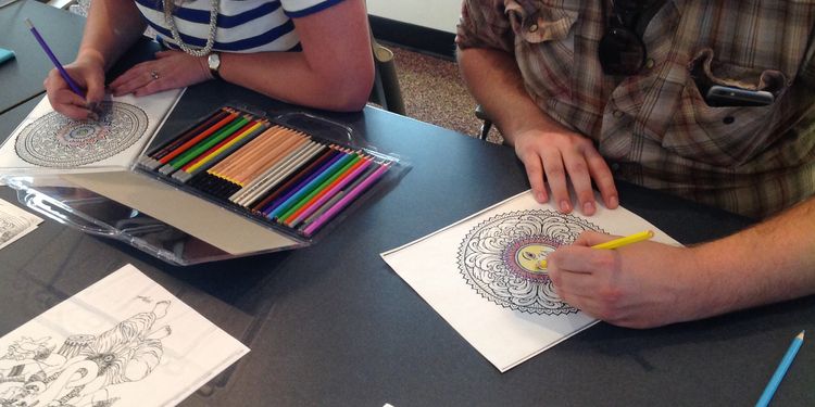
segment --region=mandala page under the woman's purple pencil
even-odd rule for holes
[[[99,104],[98,120],[65,117],[43,97],[0,148],[2,174],[129,168],[183,92],[108,96]]]

